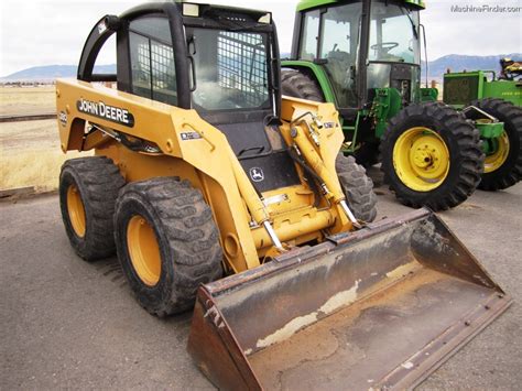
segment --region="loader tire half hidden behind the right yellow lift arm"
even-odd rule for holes
[[[373,182],[366,170],[356,163],[354,156],[337,155],[336,170],[346,202],[354,216],[361,221],[371,222],[377,217],[377,196]]]

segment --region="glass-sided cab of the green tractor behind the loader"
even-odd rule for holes
[[[302,1],[292,58],[312,62],[311,70],[324,74],[319,84],[329,83],[330,98],[345,115],[363,108],[376,88],[392,87],[404,102],[415,101],[422,8],[418,1]]]

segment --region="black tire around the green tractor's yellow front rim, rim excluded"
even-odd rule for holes
[[[395,171],[393,150],[399,138],[414,128],[427,128],[444,142],[449,169],[437,187],[417,191],[402,182]],[[445,210],[465,202],[477,188],[483,171],[480,135],[466,118],[442,102],[411,105],[390,120],[381,140],[384,181],[404,205]]]

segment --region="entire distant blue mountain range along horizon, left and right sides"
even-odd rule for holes
[[[287,58],[290,57],[290,53],[283,53],[281,57]],[[499,54],[494,56],[468,56],[460,54],[449,54],[427,63],[428,78],[441,80],[448,68],[452,69],[452,72],[460,72],[464,69],[491,69],[498,73],[500,70],[499,61],[502,57],[522,59],[522,53]],[[116,64],[100,65],[97,66],[95,70],[100,74],[113,74],[116,73]],[[76,65],[35,66],[17,72],[6,77],[1,77],[0,82],[54,80],[57,77],[75,77],[76,72]]]

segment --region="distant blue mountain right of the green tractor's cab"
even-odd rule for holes
[[[452,72],[494,70],[497,74],[499,74],[499,62],[500,58],[504,57],[510,57],[520,61],[522,59],[522,53],[499,54],[494,56],[467,56],[460,54],[449,54],[447,56],[427,63],[428,78],[441,80],[448,68]]]

